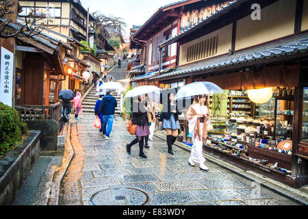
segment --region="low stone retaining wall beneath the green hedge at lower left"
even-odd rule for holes
[[[0,161],[0,205],[10,205],[40,153],[40,131],[31,131],[13,151]]]

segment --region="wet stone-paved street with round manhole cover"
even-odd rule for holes
[[[59,205],[296,205],[211,162],[205,163],[209,171],[201,172],[198,165],[188,165],[188,151],[174,146],[170,155],[159,138],[144,149],[146,159],[138,156],[138,144],[128,155],[125,145],[134,136],[124,121],[114,121],[110,140],[92,121],[92,114],[82,115],[77,124],[72,119],[77,160],[66,172]]]

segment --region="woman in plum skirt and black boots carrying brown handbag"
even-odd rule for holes
[[[138,107],[138,108],[137,108]],[[133,125],[137,125],[136,129],[136,139],[130,144],[126,145],[127,153],[131,154],[131,146],[139,143],[139,156],[146,158],[143,152],[144,147],[144,137],[149,136],[149,118],[146,112],[146,106],[144,102],[144,95],[138,96],[138,101],[134,101],[133,105]]]

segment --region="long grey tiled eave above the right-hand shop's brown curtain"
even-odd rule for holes
[[[172,73],[166,73],[157,77],[151,77],[150,80],[163,79],[166,77],[172,77],[176,75],[186,75],[189,73],[201,72],[204,70],[210,70],[215,68],[221,68],[224,66],[231,66],[235,64],[241,64],[245,62],[253,62],[255,60],[266,60],[272,57],[283,57],[284,55],[294,55],[296,53],[308,52],[308,36],[300,39],[292,40],[289,42],[283,42],[270,47],[258,47],[257,49],[241,52],[235,55],[224,55],[215,60],[206,60],[204,62],[198,62],[185,67],[179,67]]]

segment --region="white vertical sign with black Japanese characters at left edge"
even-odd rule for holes
[[[1,47],[0,102],[12,107],[14,54]]]

